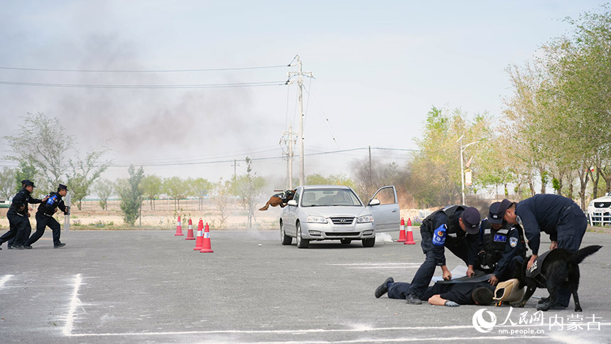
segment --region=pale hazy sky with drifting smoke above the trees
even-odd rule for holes
[[[232,176],[233,159],[245,173],[245,156],[268,158],[254,161],[257,175],[284,176],[279,141],[289,124],[298,129],[296,85],[50,85],[281,83],[296,71],[286,65],[298,54],[315,77],[304,83],[305,174],[350,175],[350,161],[367,150],[307,154],[367,146],[398,149],[372,155],[402,165],[409,152],[400,149],[417,148],[433,105],[499,117],[502,97],[511,93],[507,66],[523,65],[541,44],[568,33],[563,18],[601,4],[2,0],[0,136],[18,134],[26,113],[44,112],[60,119],[82,152],[98,144],[110,149],[116,166],[107,178],[124,176],[134,163],[146,174],[216,181]],[[267,68],[247,69],[254,67]],[[1,142],[1,156],[9,154]],[[296,161],[296,177],[298,168]]]

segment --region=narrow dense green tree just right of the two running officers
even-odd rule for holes
[[[134,165],[129,166],[127,170],[128,177],[121,178],[117,181],[117,194],[121,203],[121,213],[123,220],[130,226],[134,226],[138,220],[140,208],[142,204],[142,188],[140,183],[144,178],[144,170],[140,167],[138,170]]]

